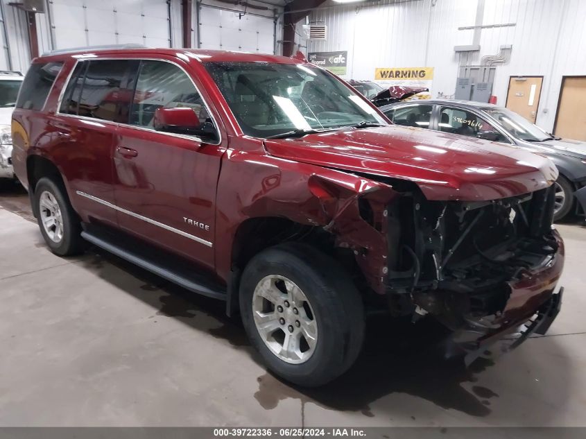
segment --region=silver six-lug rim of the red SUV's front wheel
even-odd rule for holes
[[[290,279],[268,275],[252,294],[252,315],[270,352],[286,363],[311,358],[318,343],[318,323],[307,296]]]

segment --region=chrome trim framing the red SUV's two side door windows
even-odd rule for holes
[[[187,78],[189,78],[189,80],[193,84],[193,87],[195,87],[196,92],[198,92],[198,94],[200,95],[201,100],[204,103],[205,108],[206,108],[206,110],[207,110],[207,112],[209,114],[209,117],[212,119],[212,122],[214,123],[214,128],[216,128],[216,132],[217,132],[217,135],[218,135],[217,141],[214,141],[214,142],[205,141],[205,140],[201,139],[200,137],[197,137],[197,136],[194,136],[194,135],[177,134],[175,132],[157,131],[157,130],[153,130],[153,129],[150,129],[150,128],[145,128],[145,127],[142,127],[142,126],[130,125],[130,123],[126,123],[126,122],[108,121],[108,120],[105,120],[105,119],[97,119],[95,117],[79,116],[78,114],[62,113],[61,112],[61,103],[62,103],[64,94],[65,94],[65,90],[67,89],[67,86],[69,85],[69,81],[71,80],[71,77],[73,76],[74,71],[75,71],[78,63],[79,62],[86,62],[86,61],[112,61],[112,60],[128,61],[130,63],[132,63],[133,61],[137,61],[138,62],[137,63],[137,69],[135,71],[135,78],[132,81],[132,84],[128,83],[128,78],[130,77],[130,75],[129,75],[130,69],[129,69],[129,71],[127,71],[127,75],[126,75],[126,78],[125,78],[126,83],[123,83],[125,85],[124,88],[126,88],[126,89],[130,90],[130,92],[132,92],[132,100],[134,100],[134,96],[135,96],[135,93],[136,93],[136,86],[137,86],[138,74],[139,74],[138,67],[139,67],[141,61],[167,62],[169,64],[173,64],[175,67],[178,67],[187,76]],[[132,64],[130,64],[130,67],[132,67]],[[61,69],[63,69],[63,67],[61,67]],[[87,72],[87,67],[85,68],[85,71]],[[85,82],[85,76],[84,76],[84,82]],[[54,83],[53,83],[53,85],[54,85]],[[132,101],[130,103],[132,103]],[[201,94],[200,88],[195,83],[195,81],[193,80],[193,78],[191,78],[191,75],[189,74],[189,72],[187,70],[185,70],[184,67],[182,67],[177,62],[174,62],[174,61],[171,61],[171,60],[166,60],[164,58],[156,58],[156,57],[126,58],[126,57],[99,57],[98,56],[96,58],[76,59],[75,64],[71,66],[71,70],[69,71],[69,74],[67,75],[67,80],[65,81],[64,86],[61,87],[61,92],[59,94],[59,99],[57,101],[57,110],[56,110],[55,114],[57,114],[58,116],[62,116],[62,117],[73,117],[74,119],[81,119],[81,120],[86,120],[86,121],[98,121],[100,123],[110,124],[110,125],[114,125],[114,126],[123,126],[125,128],[134,128],[135,130],[153,132],[153,133],[157,133],[157,134],[160,134],[160,135],[166,135],[166,136],[171,136],[171,137],[179,137],[181,139],[187,139],[187,140],[196,141],[199,144],[206,144],[206,145],[218,146],[218,145],[220,145],[222,143],[222,140],[223,140],[222,130],[220,129],[220,126],[218,124],[218,121],[216,120],[216,117],[214,117],[214,113],[212,113],[210,111],[210,107],[209,107],[207,101],[205,100],[204,96]]]

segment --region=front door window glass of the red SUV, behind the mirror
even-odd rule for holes
[[[202,125],[212,123],[200,94],[180,67],[164,61],[142,61],[129,123],[154,129],[155,111],[162,107],[189,107]]]

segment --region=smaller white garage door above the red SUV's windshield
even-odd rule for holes
[[[202,49],[275,53],[275,23],[272,17],[249,13],[241,15],[241,12],[202,5],[199,21]]]

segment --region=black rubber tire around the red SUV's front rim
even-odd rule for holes
[[[318,328],[313,354],[291,364],[271,351],[257,330],[252,299],[268,275],[290,279],[307,296]],[[331,257],[300,243],[285,243],[256,255],[240,284],[240,312],[252,345],[279,377],[305,387],[322,386],[345,372],[356,360],[364,338],[364,309],[352,279]]]

